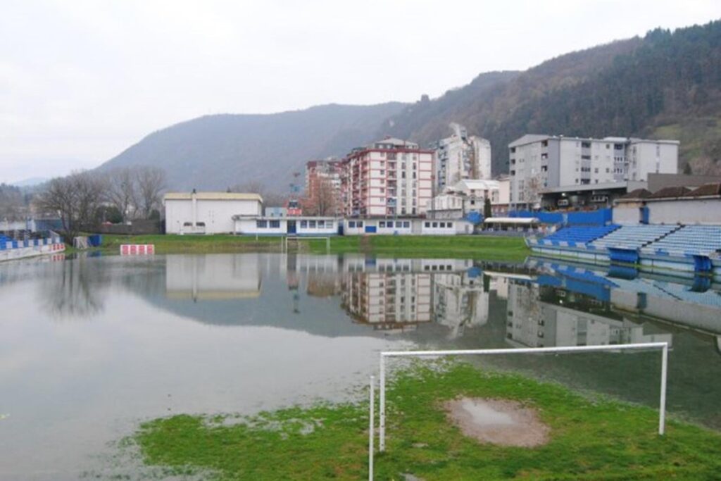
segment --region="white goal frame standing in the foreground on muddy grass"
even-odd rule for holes
[[[619,350],[661,350],[661,389],[658,413],[658,434],[663,436],[665,431],[665,412],[666,412],[666,374],[668,371],[668,343],[637,343],[637,344],[615,344],[615,345],[579,345],[557,348],[508,348],[508,349],[471,349],[471,350],[399,350],[381,352],[380,363],[380,400],[379,400],[379,450],[386,449],[386,358],[402,358],[402,357],[441,357],[441,356],[477,356],[477,355],[495,355],[495,354],[544,354],[544,353],[588,353],[598,351],[619,351]],[[372,382],[372,381],[371,381]],[[371,391],[372,392],[372,391]],[[373,425],[373,411],[371,404],[371,425]],[[371,430],[372,433],[372,430]],[[371,466],[373,460],[373,446],[369,453]]]

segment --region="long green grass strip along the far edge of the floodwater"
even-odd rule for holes
[[[104,235],[101,250],[110,254],[120,251],[120,244],[155,244],[158,254],[213,252],[280,252],[280,237],[245,237],[232,235]],[[322,239],[301,239],[291,250],[324,254]],[[330,252],[362,252],[381,257],[464,257],[522,261],[528,249],[520,237],[495,236],[368,236],[332,237]]]

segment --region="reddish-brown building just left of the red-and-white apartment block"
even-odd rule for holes
[[[306,213],[318,216],[337,216],[342,213],[342,172],[341,159],[306,162]]]

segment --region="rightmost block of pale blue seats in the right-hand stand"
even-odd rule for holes
[[[709,255],[721,250],[721,226],[683,226],[642,248],[647,254]]]

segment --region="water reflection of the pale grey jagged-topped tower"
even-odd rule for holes
[[[451,329],[451,338],[465,327],[488,322],[488,291],[479,270],[433,275],[433,319]]]

